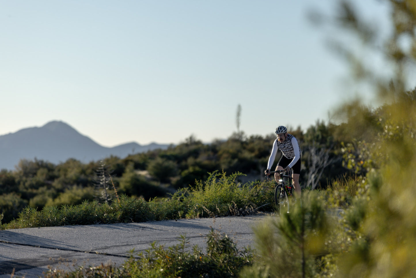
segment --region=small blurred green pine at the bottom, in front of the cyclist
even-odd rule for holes
[[[306,191],[292,205],[290,213],[254,228],[260,259],[243,277],[305,278],[318,273],[317,260],[329,254],[332,219],[316,191]]]

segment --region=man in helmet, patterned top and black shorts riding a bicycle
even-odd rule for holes
[[[269,162],[267,163],[267,169],[264,171],[266,175],[270,175],[270,168],[275,161],[277,150],[282,151],[282,157],[277,163],[277,170],[289,171],[292,168],[292,180],[293,186],[295,187],[295,193],[300,196],[300,185],[299,185],[299,175],[300,175],[300,157],[302,155],[302,150],[299,148],[299,144],[295,136],[287,133],[287,128],[283,125],[280,125],[275,130],[276,140],[273,143],[272,153],[270,154]],[[275,180],[279,182],[280,174],[275,173]]]

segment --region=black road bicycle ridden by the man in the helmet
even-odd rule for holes
[[[280,214],[282,211],[287,210],[289,213],[289,198],[293,195],[293,181],[290,175],[285,170],[271,171],[270,174],[279,173],[280,180],[276,183],[275,187],[275,205],[277,212]],[[270,180],[270,176],[266,175],[267,180]]]

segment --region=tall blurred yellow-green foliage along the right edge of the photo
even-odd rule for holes
[[[376,136],[344,145],[349,167],[366,175],[368,194],[356,200],[346,221],[359,234],[348,252],[335,258],[339,277],[414,277],[416,273],[416,2],[384,0],[388,28],[378,30],[350,1],[339,1],[331,26],[349,32],[362,45],[335,43],[351,66],[354,88],[386,103]],[[377,58],[377,63],[371,58]],[[382,70],[381,70],[382,69]],[[410,85],[409,85],[410,84]],[[361,86],[364,85],[364,86]],[[356,100],[341,111],[354,111]],[[375,119],[376,120],[376,119]],[[351,130],[371,124],[362,114]]]

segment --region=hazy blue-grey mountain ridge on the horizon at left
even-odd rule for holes
[[[62,121],[52,121],[38,128],[24,128],[0,135],[0,169],[13,170],[22,158],[46,160],[55,164],[75,158],[83,163],[97,161],[110,155],[124,158],[132,153],[166,149],[169,145],[126,143],[107,148]]]

